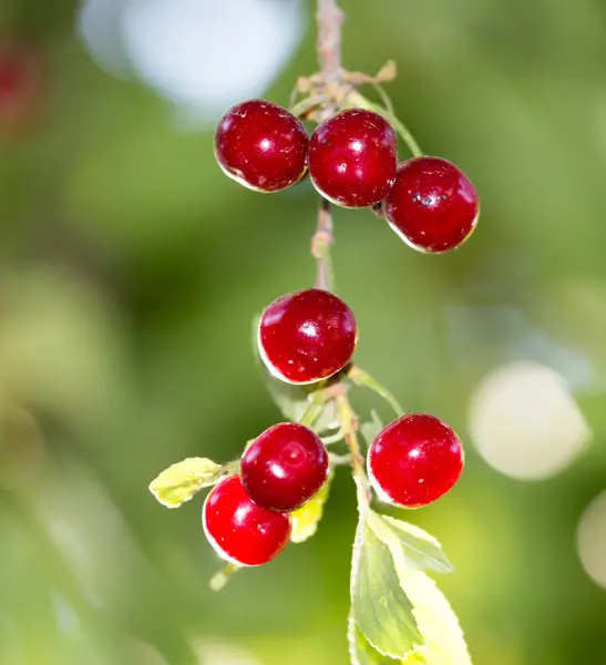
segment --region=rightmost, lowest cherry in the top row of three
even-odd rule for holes
[[[474,186],[452,162],[414,157],[398,166],[383,202],[391,228],[411,247],[427,253],[462,245],[480,216]]]

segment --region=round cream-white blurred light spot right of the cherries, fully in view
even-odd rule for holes
[[[473,396],[469,428],[486,462],[520,480],[559,473],[590,438],[566,381],[538,362],[512,362],[487,375]]]

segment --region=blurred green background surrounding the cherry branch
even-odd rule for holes
[[[400,116],[482,200],[474,236],[440,257],[336,213],[360,365],[466,444],[461,482],[410,520],[456,567],[439,583],[476,664],[605,665],[606,4],[341,6],[345,64],[394,59]],[[312,14],[0,0],[0,35],[33,63],[22,116],[0,114],[1,665],[348,663],[346,470],[312,541],[220,594],[202,501],[168,511],[147,491],[280,419],[250,324],[312,282],[317,196],[239,187],[213,127],[246,96],[288,102],[316,69]],[[481,383],[520,360],[535,365],[503,392]]]

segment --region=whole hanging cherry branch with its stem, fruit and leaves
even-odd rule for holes
[[[364,321],[337,295],[331,245],[333,213],[367,208],[369,225],[394,231],[408,247],[452,252],[476,228],[479,196],[453,162],[423,154],[396,115],[383,89],[396,79],[394,63],[374,75],[340,65],[341,20],[335,0],[318,0],[320,71],[298,80],[288,104],[235,104],[215,132],[218,167],[237,184],[268,194],[309,178],[317,193],[315,232],[310,224],[316,280],[285,285],[253,321],[253,355],[281,419],[251,432],[236,459],[188,458],[150,490],[177,508],[212,488],[202,524],[223,560],[210,579],[218,591],[236,571],[287,556],[290,546],[321,532],[332,479],[349,469],[359,516],[347,622],[351,663],[466,665],[456,615],[428,576],[452,572],[452,564],[434,536],[402,519],[402,510],[412,514],[455,487],[463,444],[439,415],[404,411],[358,365]],[[316,126],[308,133],[309,125]],[[350,397],[358,390],[379,396],[391,421],[355,410]]]

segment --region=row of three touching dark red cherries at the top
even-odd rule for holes
[[[286,109],[249,100],[220,120],[215,155],[229,177],[257,192],[285,190],[309,173],[325,198],[342,207],[373,207],[420,252],[459,247],[479,218],[475,188],[458,166],[432,156],[398,164],[393,127],[366,109],[341,111],[308,137]]]

